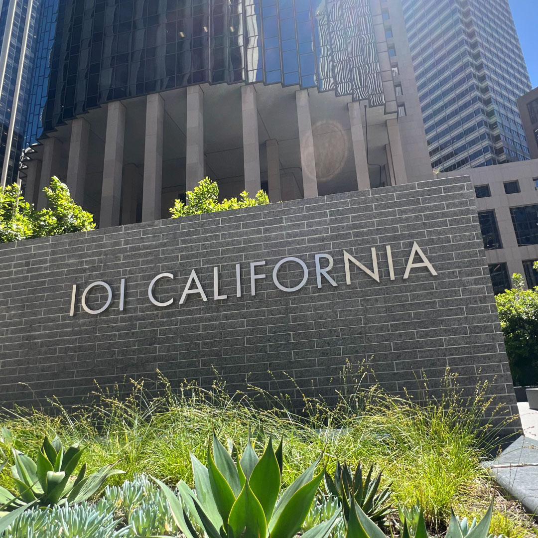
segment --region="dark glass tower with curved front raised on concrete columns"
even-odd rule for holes
[[[405,34],[387,37],[383,13],[380,0],[60,0],[27,199],[43,207],[58,175],[103,227],[168,216],[204,175],[222,196],[272,200],[430,179],[410,63],[391,65]]]

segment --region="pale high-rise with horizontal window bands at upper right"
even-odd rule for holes
[[[507,0],[388,0],[387,18],[398,4],[431,168],[528,160],[516,100],[530,81]]]

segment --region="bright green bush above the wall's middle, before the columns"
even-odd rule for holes
[[[240,199],[230,198],[218,201],[218,185],[215,181],[205,178],[200,181],[194,190],[187,191],[187,204],[176,200],[174,207],[170,208],[172,218],[185,217],[187,215],[200,215],[201,213],[214,213],[227,209],[239,209],[242,207],[265,206],[270,203],[267,194],[259,190],[255,198],[249,198],[249,193],[244,190]]]

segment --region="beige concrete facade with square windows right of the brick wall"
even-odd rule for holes
[[[538,160],[466,169],[475,195],[494,293],[512,287],[522,274],[528,287],[538,285]],[[453,173],[437,174],[448,178]]]

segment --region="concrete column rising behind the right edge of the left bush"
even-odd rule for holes
[[[90,124],[84,118],[75,118],[71,126],[71,141],[69,143],[67,186],[71,197],[80,206],[84,203],[89,140]]]

